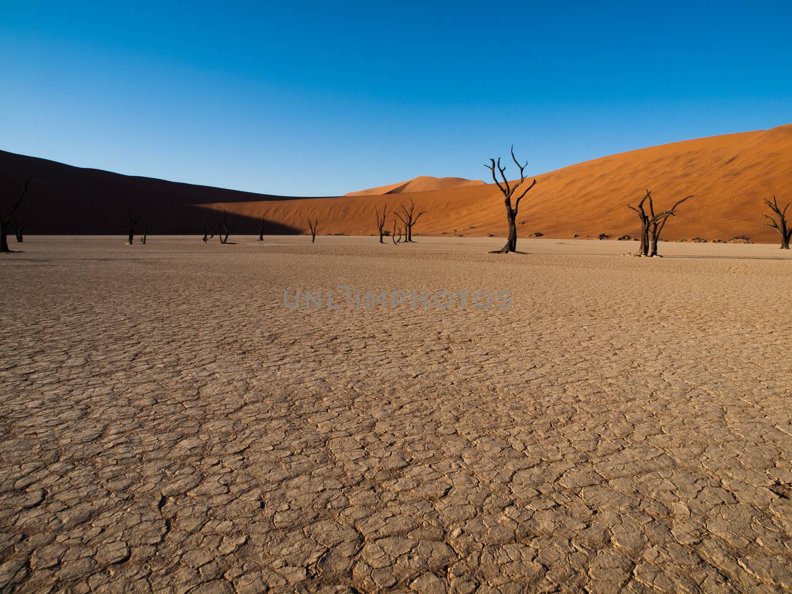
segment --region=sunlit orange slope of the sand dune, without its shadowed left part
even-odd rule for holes
[[[650,189],[659,208],[687,194],[664,230],[668,240],[700,237],[727,240],[745,235],[754,242],[775,242],[766,227],[763,198],[792,200],[792,124],[771,130],[686,140],[593,161],[536,176],[537,184],[520,204],[520,237],[534,232],[548,238],[608,234],[636,235],[638,217],[627,208]],[[387,187],[387,186],[385,186]],[[394,200],[394,197],[397,200]],[[389,210],[409,199],[427,212],[415,227],[421,234],[502,235],[506,219],[497,186],[475,185],[398,196],[208,204],[250,216],[265,213],[277,223],[307,231],[306,217],[319,219],[319,233],[375,233],[374,209]],[[386,228],[390,229],[390,219]]]

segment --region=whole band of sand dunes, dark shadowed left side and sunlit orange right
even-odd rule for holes
[[[265,215],[268,232],[307,233],[310,216],[319,219],[319,234],[368,235],[376,231],[375,208],[387,203],[390,211],[410,199],[427,211],[414,229],[418,234],[484,236],[506,231],[500,192],[495,185],[477,182],[383,193],[405,183],[413,188],[413,181],[415,188],[423,188],[423,183],[436,179],[416,178],[373,188],[368,191],[375,193],[367,195],[289,198],[127,177],[10,153],[0,153],[0,172],[6,188],[21,186],[26,175],[34,177],[28,207],[31,234],[121,234],[120,221],[131,201],[139,210],[158,212],[152,234],[197,234],[202,221],[216,221],[216,211],[226,208],[234,215],[232,234],[253,233],[255,219]],[[763,224],[762,199],[775,195],[783,204],[792,200],[792,124],[632,150],[536,178],[537,185],[520,206],[520,237],[534,232],[548,238],[635,235],[638,217],[626,205],[635,204],[650,189],[657,208],[695,194],[665,227],[666,239],[746,235],[754,242],[775,242],[775,231]],[[6,192],[3,200],[12,195]],[[386,228],[391,226],[389,218]]]

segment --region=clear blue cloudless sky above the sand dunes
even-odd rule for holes
[[[792,123],[792,2],[0,0],[0,148],[253,192]]]

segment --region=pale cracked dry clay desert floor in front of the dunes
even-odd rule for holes
[[[792,589],[792,254],[417,240],[2,255],[2,592]]]

